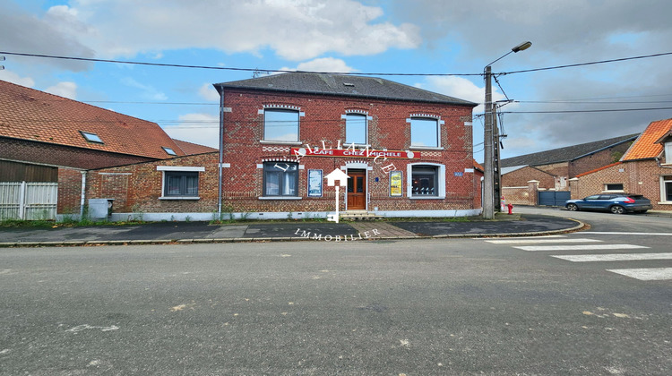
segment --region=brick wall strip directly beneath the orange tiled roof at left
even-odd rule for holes
[[[0,137],[0,158],[84,169],[154,160],[153,158],[4,137]]]

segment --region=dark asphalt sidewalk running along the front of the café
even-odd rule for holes
[[[245,222],[210,225],[208,222],[155,222],[130,226],[56,228],[0,228],[0,247],[93,244],[188,244],[268,241],[352,242],[386,239],[549,235],[576,231],[573,219],[497,214],[494,220],[470,221],[356,221],[356,222]]]

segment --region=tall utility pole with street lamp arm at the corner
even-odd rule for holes
[[[484,69],[484,77],[486,79],[486,129],[483,134],[484,152],[484,167],[486,169],[483,179],[483,218],[492,219],[495,217],[495,169],[494,169],[494,137],[493,137],[493,104],[492,104],[492,64],[502,60],[509,54],[518,51],[524,51],[532,46],[532,42],[522,42],[520,45],[513,47],[511,51],[496,59],[494,62],[487,64]]]

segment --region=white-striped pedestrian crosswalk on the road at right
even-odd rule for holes
[[[608,244],[599,239],[574,238],[564,235],[486,240],[490,244],[507,244],[526,252],[578,252],[550,254],[550,257],[571,262],[672,261],[672,252],[641,252],[650,247],[637,244]],[[592,252],[595,251],[595,252]],[[600,253],[616,251],[619,253]],[[606,269],[622,276],[651,280],[671,280],[672,268]]]

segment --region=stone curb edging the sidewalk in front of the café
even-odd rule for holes
[[[577,223],[576,226],[559,230],[547,230],[530,233],[504,233],[504,234],[446,234],[446,235],[416,235],[416,236],[379,236],[371,239],[361,239],[363,241],[375,242],[379,240],[417,240],[417,239],[465,239],[465,238],[487,238],[487,237],[520,237],[520,236],[544,236],[555,234],[569,234],[581,231],[586,227],[582,221],[566,218]],[[68,246],[96,246],[96,245],[145,245],[145,244],[220,244],[220,243],[265,243],[265,242],[299,242],[317,240],[310,237],[292,236],[292,237],[231,237],[219,239],[154,239],[154,240],[83,240],[83,241],[64,241],[64,242],[21,242],[21,243],[0,243],[0,248],[22,248],[22,247],[68,247]],[[359,239],[358,239],[359,240]],[[327,242],[332,242],[329,240]],[[333,243],[348,243],[350,241],[335,241]]]

